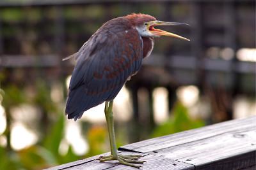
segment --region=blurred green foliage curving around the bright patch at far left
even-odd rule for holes
[[[47,116],[49,125],[47,124],[43,127],[46,128],[46,133],[42,141],[39,141],[36,145],[24,148],[19,152],[0,147],[0,169],[44,169],[81,159],[73,152],[71,146],[68,146],[68,152],[64,155],[59,152],[60,143],[64,136],[65,117],[63,112],[58,109],[58,106],[52,102],[49,85],[46,85],[45,81],[37,80],[33,90],[35,90],[33,91],[35,94],[31,96],[24,89],[20,89],[15,85],[3,87],[1,96],[3,96],[4,108],[9,110],[13,106],[19,106],[21,103],[30,103],[40,106],[46,115],[49,113],[60,114],[54,115],[56,119],[54,117],[49,119]]]

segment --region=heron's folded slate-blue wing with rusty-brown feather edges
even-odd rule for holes
[[[68,118],[81,118],[84,111],[114,99],[127,78],[140,69],[142,49],[134,29],[93,35],[77,53],[65,111]]]

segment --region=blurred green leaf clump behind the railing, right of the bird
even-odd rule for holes
[[[193,120],[190,118],[188,109],[180,102],[175,104],[172,113],[173,116],[169,120],[154,129],[152,138],[195,129],[205,125],[202,120]]]

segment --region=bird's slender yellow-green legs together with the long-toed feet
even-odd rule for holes
[[[108,160],[118,160],[120,164],[124,164],[132,167],[141,167],[134,164],[143,164],[145,161],[138,160],[141,155],[121,155],[117,153],[116,141],[115,141],[115,131],[114,131],[114,120],[113,120],[113,101],[106,101],[105,104],[105,116],[108,125],[109,143],[111,148],[111,155],[106,157],[99,157],[100,162],[105,162]],[[134,164],[131,164],[134,163]]]

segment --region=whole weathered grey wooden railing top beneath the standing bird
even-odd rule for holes
[[[256,116],[209,125],[160,138],[122,146],[124,154],[142,153],[141,169],[256,169]],[[102,155],[107,155],[104,153]],[[101,163],[99,155],[56,169],[136,169],[113,162]]]

